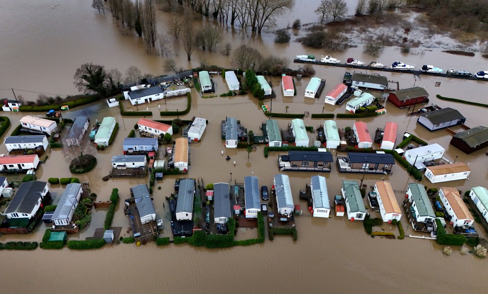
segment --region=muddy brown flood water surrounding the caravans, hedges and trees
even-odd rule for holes
[[[318,2],[318,1],[317,1]],[[354,2],[354,1],[352,1]],[[313,9],[309,2],[299,1],[295,6],[293,18],[314,18]],[[355,2],[354,2],[355,5]],[[19,9],[18,7],[22,7]],[[313,6],[315,7],[315,5]],[[175,12],[176,14],[176,12]],[[171,14],[158,11],[158,27],[164,32],[163,20]],[[13,21],[15,20],[15,21]],[[22,20],[22,21],[20,21]],[[281,19],[281,26],[286,26],[286,19]],[[308,22],[308,21],[307,21]],[[15,25],[13,25],[15,23]],[[406,63],[414,63],[417,68],[423,63],[434,64],[441,68],[455,68],[476,72],[488,69],[486,59],[477,54],[475,57],[455,56],[440,52],[440,50],[425,51],[420,55],[402,55],[394,48],[386,48],[378,58],[362,53],[362,48],[351,48],[343,53],[323,52],[303,48],[299,43],[291,42],[285,45],[275,45],[273,34],[264,33],[261,37],[245,36],[238,30],[222,28],[225,41],[231,42],[233,47],[240,43],[251,44],[264,55],[269,53],[287,56],[290,60],[297,54],[322,55],[330,53],[333,57],[345,60],[347,57],[365,61],[373,59],[382,63],[391,63],[399,59]],[[133,36],[117,34],[117,28],[109,11],[105,16],[89,8],[81,1],[46,1],[42,4],[28,1],[2,1],[0,9],[0,89],[15,88],[52,94],[76,94],[72,76],[77,67],[84,62],[93,61],[103,64],[107,69],[117,68],[124,72],[129,66],[135,65],[143,72],[154,75],[162,74],[163,59],[156,55],[146,54],[142,40]],[[229,66],[230,57],[220,53],[208,53],[196,50],[191,64],[186,61],[184,52],[174,56],[179,64],[185,67],[197,66],[199,58],[205,58],[209,64]],[[291,68],[298,64],[290,63]],[[316,76],[326,79],[325,93],[318,100],[304,98],[304,89],[308,79],[297,83],[297,96],[282,97],[279,77],[267,77],[273,81],[273,88],[277,98],[272,101],[273,112],[285,112],[289,106],[289,113],[346,113],[345,105],[330,106],[323,104],[326,92],[335,84],[342,82],[347,69],[327,66],[315,66]],[[430,93],[430,103],[441,107],[459,109],[467,117],[468,126],[488,125],[488,116],[484,108],[454,104],[438,100],[435,95],[469,99],[484,102],[488,83],[480,81],[464,81],[421,76],[412,74],[383,73],[388,80],[398,81],[400,88],[413,85],[425,87]],[[225,81],[221,77],[214,77],[217,93],[227,92]],[[435,87],[441,82],[440,87]],[[17,93],[18,92],[18,93]],[[16,91],[28,100],[35,100],[36,93]],[[2,97],[13,98],[11,91],[0,90]],[[270,152],[269,157],[263,155],[263,146],[257,147],[256,152],[249,155],[245,149],[226,149],[221,139],[221,120],[226,116],[236,117],[241,124],[260,134],[261,121],[266,120],[256,99],[250,96],[202,98],[192,89],[192,109],[182,119],[201,116],[208,119],[202,142],[192,143],[190,158],[192,165],[188,177],[202,177],[204,183],[242,182],[243,177],[255,175],[259,177],[260,185],[272,185],[273,175],[279,173],[277,160],[279,153]],[[127,101],[123,102],[126,109],[132,107]],[[167,106],[161,104],[161,110],[176,110],[186,107],[186,98],[171,99]],[[270,101],[265,101],[271,105]],[[429,143],[439,143],[446,149],[445,156],[456,162],[466,162],[472,170],[470,180],[452,181],[444,184],[432,184],[423,179],[420,183],[428,187],[455,186],[463,192],[473,186],[486,186],[488,180],[486,150],[479,150],[470,155],[449,145],[450,135],[445,130],[431,133],[416,124],[416,117],[406,116],[406,109],[398,109],[387,103],[387,113],[375,118],[364,118],[370,130],[384,127],[385,122],[399,123],[399,138],[404,132],[412,133]],[[148,107],[153,111],[152,119],[166,119],[159,115],[158,104],[139,106]],[[134,109],[135,110],[135,109]],[[11,119],[12,126],[7,130],[10,134],[19,119],[25,113],[3,113]],[[42,116],[40,114],[34,114]],[[121,117],[118,108],[108,108],[104,102],[94,103],[84,108],[75,108],[64,112],[66,118],[80,115],[88,116],[94,123],[104,116],[114,116],[119,123],[119,132],[112,146],[105,151],[97,151],[93,145],[84,146],[83,153],[94,154],[97,157],[96,169],[78,176],[82,181],[89,181],[92,191],[98,194],[98,200],[108,200],[112,188],[119,189],[120,199],[130,197],[129,188],[137,184],[145,184],[148,178],[111,179],[102,181],[108,175],[112,155],[121,154],[121,143],[133,129],[139,118]],[[288,119],[280,119],[280,127],[285,128]],[[306,125],[317,127],[320,119],[304,119]],[[354,120],[337,119],[338,127],[352,126]],[[461,130],[459,127],[454,127]],[[66,130],[64,135],[66,135]],[[309,134],[311,142],[316,134]],[[224,155],[221,154],[224,150]],[[79,154],[79,148],[65,147],[47,152],[48,159],[36,171],[38,179],[47,181],[49,177],[68,177],[69,162]],[[0,147],[0,153],[7,153],[5,146]],[[332,151],[334,157],[335,153]],[[232,160],[226,161],[226,155]],[[340,154],[343,155],[343,154]],[[235,166],[232,161],[236,161]],[[412,178],[400,165],[395,165],[389,176],[365,175],[364,184],[373,186],[377,180],[388,180],[393,189],[405,190]],[[39,292],[108,292],[114,289],[138,292],[312,292],[322,290],[326,292],[350,292],[358,289],[366,292],[403,291],[412,292],[459,292],[469,289],[470,292],[481,292],[488,283],[483,278],[488,268],[487,261],[476,258],[471,254],[461,255],[459,248],[454,248],[453,254],[442,254],[442,246],[430,240],[406,238],[405,240],[386,240],[370,238],[364,233],[360,222],[350,222],[347,218],[332,217],[320,219],[309,217],[307,204],[298,198],[298,192],[305,185],[310,184],[310,177],[317,173],[288,172],[295,203],[299,203],[304,214],[296,220],[298,240],[291,237],[276,237],[274,241],[267,240],[264,244],[248,247],[234,247],[229,249],[210,250],[195,248],[187,244],[157,247],[149,243],[141,247],[120,244],[105,246],[100,250],[72,251],[42,250],[33,252],[0,251],[0,258],[4,265],[2,275],[2,292],[28,291],[33,288]],[[329,197],[340,194],[342,180],[355,179],[360,181],[362,175],[338,173],[332,168],[331,173],[322,173],[326,177]],[[20,179],[21,176],[18,177]],[[154,206],[158,218],[168,219],[168,211],[163,207],[164,197],[173,192],[174,176],[165,177],[157,183],[154,193]],[[17,179],[9,176],[9,180]],[[54,203],[63,192],[60,185],[50,186],[54,195]],[[57,196],[57,197],[56,197]],[[399,202],[403,193],[397,192]],[[2,207],[4,209],[5,207]],[[92,212],[92,223],[78,235],[70,239],[93,236],[95,228],[103,225],[106,209]],[[379,214],[372,213],[377,217]],[[416,234],[411,226],[403,219],[406,235]],[[122,205],[119,206],[114,226],[123,227],[122,234],[129,236],[129,222],[124,216]],[[478,232],[486,238],[486,232],[476,224]],[[388,225],[383,225],[389,231]],[[376,228],[375,228],[376,230]],[[379,228],[378,228],[379,230]],[[41,224],[34,234],[26,236],[4,235],[1,242],[11,240],[40,241],[44,232]],[[396,233],[396,232],[395,232]],[[254,232],[248,232],[254,236]],[[248,235],[246,234],[246,235]],[[398,233],[396,233],[398,235]],[[165,221],[164,236],[170,236],[169,221]],[[242,232],[238,233],[239,238]],[[250,237],[251,238],[251,237]],[[455,269],[453,274],[452,269]],[[29,277],[28,283],[19,283],[18,277],[36,273]],[[38,274],[39,273],[39,274]],[[40,274],[43,273],[43,274]],[[453,278],[455,276],[455,278]],[[47,288],[47,280],[52,280],[55,287]],[[50,284],[51,285],[51,284]],[[55,290],[54,290],[55,289]]]

